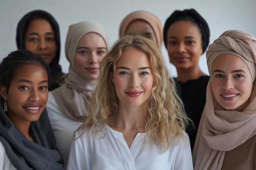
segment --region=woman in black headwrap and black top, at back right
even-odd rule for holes
[[[187,115],[195,128],[189,128],[191,149],[205,104],[209,76],[199,67],[200,56],[209,44],[209,27],[195,9],[174,11],[164,25],[164,45],[170,62],[177,69],[175,80],[180,85],[180,96]]]

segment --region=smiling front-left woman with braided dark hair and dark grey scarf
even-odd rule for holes
[[[0,169],[63,170],[47,116],[49,67],[30,51],[10,53],[0,64]],[[46,120],[46,119],[45,119]]]

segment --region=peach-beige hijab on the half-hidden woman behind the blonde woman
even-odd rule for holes
[[[135,20],[143,20],[152,27],[157,38],[157,46],[161,49],[163,43],[163,25],[156,15],[147,11],[135,11],[128,14],[120,25],[119,37],[123,37],[127,33],[128,26]]]

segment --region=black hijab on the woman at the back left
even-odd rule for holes
[[[47,18],[47,21],[51,24],[52,29],[55,34],[57,49],[56,49],[56,56],[54,60],[49,64],[49,67],[52,71],[52,74],[56,74],[61,71],[61,66],[58,64],[60,59],[60,51],[61,51],[61,41],[60,41],[60,31],[58,28],[58,23],[53,18],[53,16],[46,11],[42,10],[35,10],[27,13],[24,15],[17,26],[17,35],[16,35],[16,43],[18,49],[25,49],[25,42],[24,42],[24,36],[27,31],[27,28],[29,27],[29,24],[32,20],[38,19],[38,18]]]

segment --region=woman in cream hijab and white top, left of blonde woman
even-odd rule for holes
[[[65,54],[70,62],[65,83],[49,93],[47,111],[65,166],[74,130],[88,115],[88,104],[99,77],[99,65],[108,51],[107,33],[97,22],[70,25]]]

